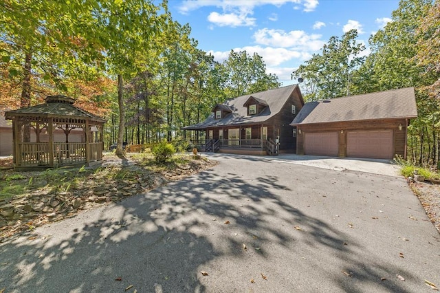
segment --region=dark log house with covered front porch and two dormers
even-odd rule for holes
[[[194,141],[202,151],[295,153],[296,128],[289,124],[303,105],[298,85],[289,85],[215,105],[205,121],[182,129],[205,131],[206,140]]]

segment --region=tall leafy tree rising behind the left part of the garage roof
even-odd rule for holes
[[[350,30],[341,39],[332,36],[322,47],[321,54],[314,54],[305,65],[300,65],[292,73],[292,79],[305,80],[306,100],[350,94],[350,88],[353,87],[351,76],[364,62],[360,53],[365,50],[365,46],[356,41],[357,37],[357,30]]]

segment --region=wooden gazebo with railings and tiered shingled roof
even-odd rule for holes
[[[89,165],[102,160],[104,119],[75,107],[67,96],[5,112],[12,120],[14,170]]]

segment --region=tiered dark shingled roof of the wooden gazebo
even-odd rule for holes
[[[17,116],[40,116],[44,118],[74,118],[94,122],[106,122],[106,120],[92,113],[75,107],[73,105],[74,102],[75,100],[73,98],[67,96],[47,96],[44,104],[7,111],[5,118],[12,119]]]

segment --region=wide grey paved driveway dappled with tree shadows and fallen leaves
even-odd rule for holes
[[[283,156],[212,157],[219,164],[210,171],[1,243],[0,290],[432,292],[425,280],[440,285],[439,233],[402,177]]]

